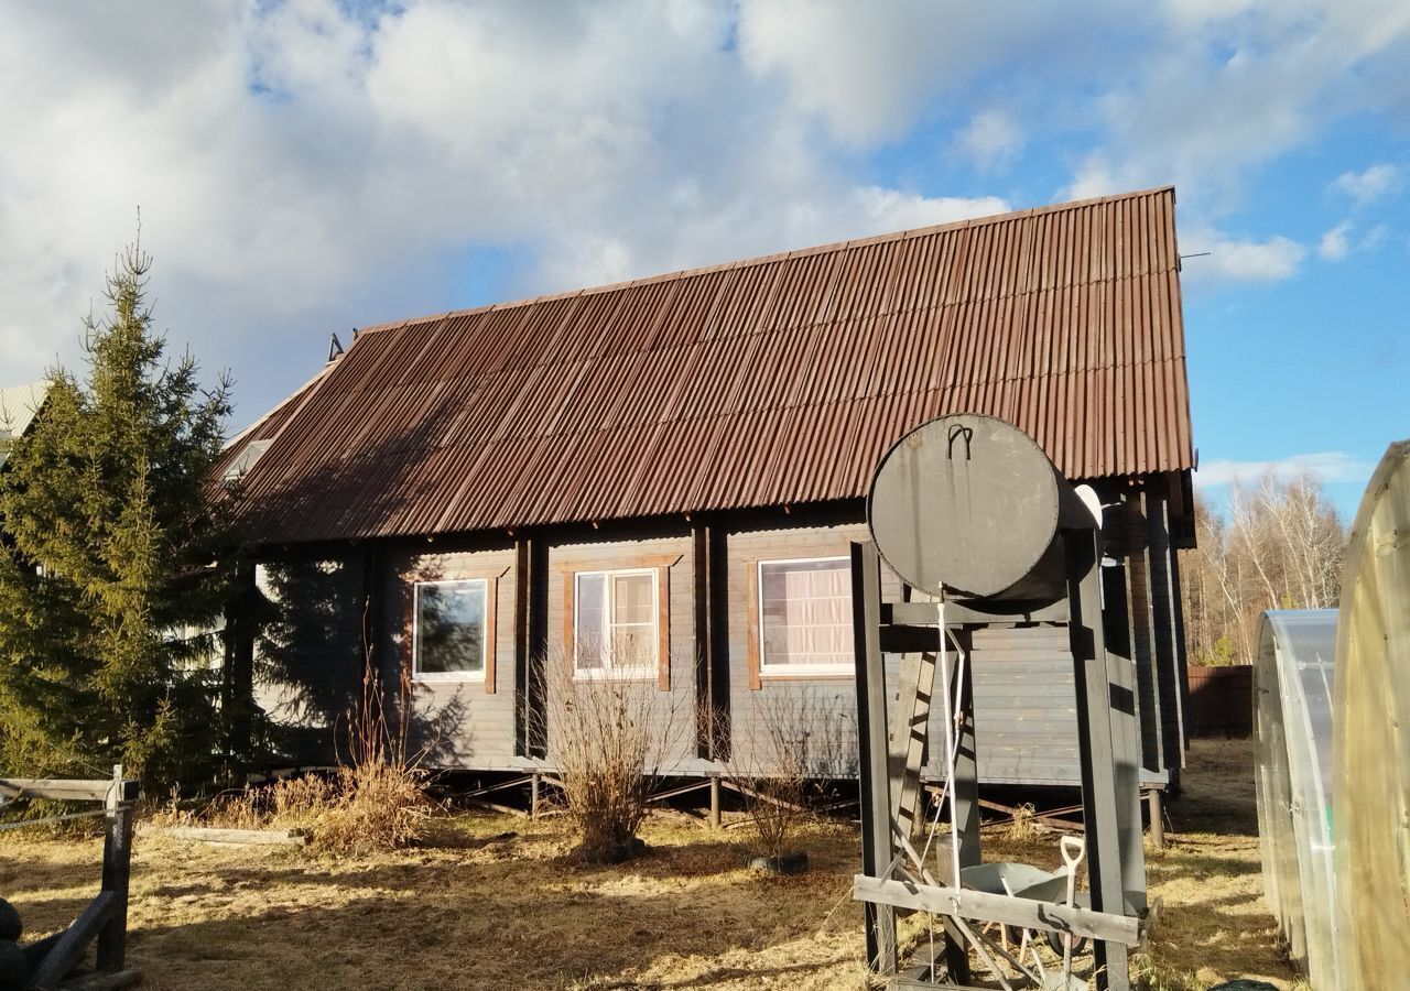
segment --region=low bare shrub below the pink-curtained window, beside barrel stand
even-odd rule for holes
[[[763,853],[783,857],[825,780],[856,774],[856,727],[840,699],[802,692],[766,696],[756,713],[753,732],[735,740],[726,775]]]

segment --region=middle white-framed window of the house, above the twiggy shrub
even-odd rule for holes
[[[574,575],[572,667],[580,675],[649,677],[660,663],[656,568]]]

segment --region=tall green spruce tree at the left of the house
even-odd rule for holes
[[[171,361],[140,241],[85,320],[86,375],[56,368],[0,472],[0,767],[93,777],[123,763],[193,784],[220,739],[228,527],[207,485],[230,382]]]

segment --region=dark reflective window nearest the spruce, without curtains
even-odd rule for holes
[[[485,677],[485,579],[416,582],[412,674],[420,681],[479,681]]]

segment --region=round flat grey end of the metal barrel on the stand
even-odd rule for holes
[[[942,416],[881,458],[867,523],[881,558],[912,588],[998,596],[1049,555],[1065,491],[1018,427],[979,413]]]

